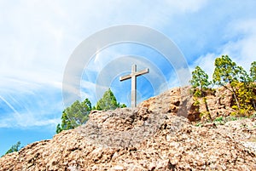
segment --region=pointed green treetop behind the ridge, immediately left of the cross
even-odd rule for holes
[[[117,102],[111,89],[108,88],[108,90],[103,94],[102,99],[96,103],[96,107],[94,107],[94,109],[102,111],[102,110],[114,110],[118,107],[126,107],[126,105],[125,104],[120,105]]]

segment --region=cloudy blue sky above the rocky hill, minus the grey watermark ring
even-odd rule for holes
[[[62,79],[67,62],[79,43],[97,31],[125,24],[148,26],[177,45],[189,68],[199,65],[210,77],[213,61],[221,54],[229,54],[246,70],[256,59],[254,0],[3,0],[0,8],[0,155],[18,140],[26,145],[52,138],[65,108]],[[157,66],[152,73],[160,73],[168,88],[178,86],[172,66],[161,66],[160,54],[126,43],[103,49],[84,66],[81,98],[95,103],[100,77],[102,89],[110,83],[118,100],[127,103],[131,83],[117,80],[128,70],[114,71],[122,67],[116,67],[118,57],[128,54],[146,57],[151,67]],[[115,75],[106,77],[105,70]],[[150,73],[138,78],[140,100],[158,94],[154,87],[160,87],[159,77],[150,79]]]

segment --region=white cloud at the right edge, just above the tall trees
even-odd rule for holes
[[[256,42],[256,20],[243,20],[238,22],[232,21],[227,29],[230,41],[218,47],[218,53],[211,53],[202,55],[195,60],[192,65],[194,70],[195,66],[207,72],[209,78],[212,79],[214,70],[214,60],[223,54],[228,54],[231,60],[236,62],[236,65],[242,66],[247,71],[250,65],[256,59],[255,42]]]

